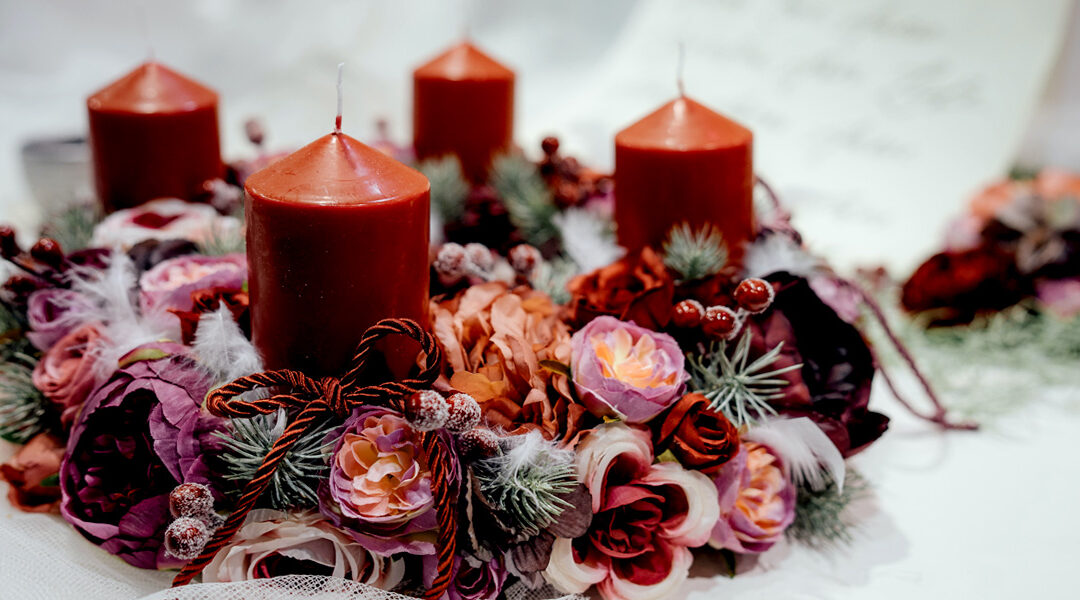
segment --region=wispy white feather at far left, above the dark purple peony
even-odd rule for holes
[[[102,374],[111,372],[120,357],[138,345],[178,338],[179,323],[175,316],[164,311],[139,312],[135,264],[126,254],[113,251],[104,270],[75,268],[68,277],[71,289],[89,302],[72,306],[65,318],[75,324],[103,326],[96,349]]]

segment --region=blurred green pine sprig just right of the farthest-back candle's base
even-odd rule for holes
[[[558,235],[558,207],[536,165],[524,156],[498,156],[491,165],[491,187],[502,200],[510,222],[525,240],[540,247]]]

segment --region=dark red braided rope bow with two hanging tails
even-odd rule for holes
[[[420,343],[420,350],[426,355],[423,368],[413,379],[390,381],[376,385],[362,386],[360,377],[367,366],[367,360],[375,344],[380,339],[392,336],[405,336]],[[255,506],[255,501],[270,483],[279,463],[288,454],[293,445],[303,435],[312,423],[328,415],[346,417],[352,409],[381,405],[401,410],[404,399],[421,390],[429,388],[438,377],[442,364],[442,351],[434,337],[409,319],[387,318],[375,324],[361,338],[356,353],[349,363],[350,368],[343,377],[332,377],[319,380],[309,378],[299,371],[281,369],[264,371],[242,377],[231,383],[211,392],[206,397],[206,409],[219,417],[245,419],[259,414],[276,412],[279,409],[296,409],[299,413],[285,427],[273,448],[262,460],[255,476],[244,488],[243,495],[237,502],[235,509],[206,543],[201,555],[192,559],[173,579],[173,587],[187,585],[202,572],[214,559],[214,556],[229,543],[237,530],[243,524],[247,513]],[[254,390],[281,390],[267,398],[241,399],[241,394]],[[428,455],[428,466],[431,472],[433,503],[438,521],[436,551],[438,568],[431,587],[424,592],[424,598],[434,600],[443,596],[450,583],[450,571],[454,567],[456,502],[457,491],[454,489],[455,478],[453,462],[446,446],[440,442],[436,432],[420,434],[420,447]]]

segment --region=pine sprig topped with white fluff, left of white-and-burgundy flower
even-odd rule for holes
[[[564,451],[530,434],[505,453],[473,463],[481,491],[526,535],[550,526],[570,504],[562,497],[577,486]]]

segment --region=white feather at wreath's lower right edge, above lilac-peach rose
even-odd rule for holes
[[[769,447],[795,481],[822,490],[827,483],[827,473],[837,488],[843,489],[843,456],[810,419],[770,419],[752,427],[743,438]]]

